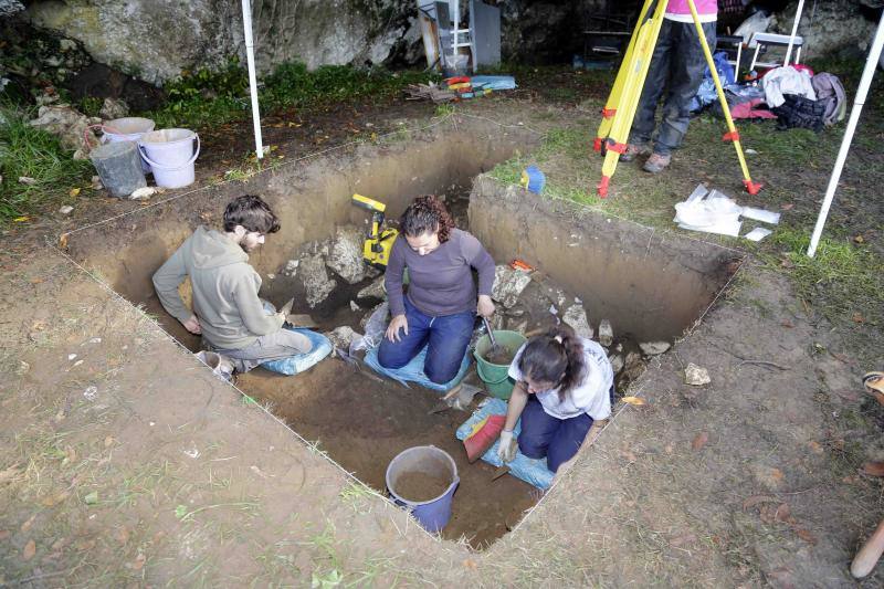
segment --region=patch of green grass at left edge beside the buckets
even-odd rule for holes
[[[88,160],[74,160],[56,137],[33,128],[28,118],[20,111],[0,108],[0,223],[63,201],[93,173]],[[19,182],[22,176],[34,182]]]

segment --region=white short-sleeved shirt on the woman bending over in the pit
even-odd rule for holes
[[[576,418],[581,413],[587,413],[594,421],[611,417],[611,398],[609,391],[614,382],[614,372],[608,355],[600,345],[591,339],[581,337],[583,345],[583,358],[586,358],[587,369],[583,381],[573,387],[565,395],[565,400],[559,401],[559,389],[549,389],[537,393],[537,400],[544,406],[544,411],[557,419]],[[523,380],[522,370],[518,369],[518,361],[525,349],[523,345],[509,365],[509,376],[514,380]]]

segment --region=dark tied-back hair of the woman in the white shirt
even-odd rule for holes
[[[555,382],[559,401],[578,387],[587,371],[583,345],[567,325],[552,327],[528,340],[518,360],[518,369],[533,380]]]

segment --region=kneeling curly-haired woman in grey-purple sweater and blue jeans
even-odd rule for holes
[[[478,273],[477,298],[472,269]],[[477,239],[454,227],[438,198],[419,197],[402,213],[385,282],[392,320],[378,361],[385,368],[401,368],[429,346],[427,377],[449,382],[466,354],[476,313],[494,313],[494,260]]]

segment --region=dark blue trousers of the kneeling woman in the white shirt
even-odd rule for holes
[[[522,433],[518,434],[519,452],[529,459],[546,456],[546,464],[556,472],[580,450],[592,427],[592,418],[581,413],[570,419],[558,419],[544,411],[544,406],[534,395],[522,411]]]

